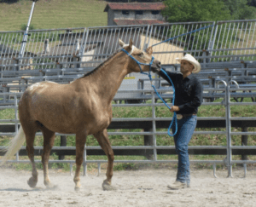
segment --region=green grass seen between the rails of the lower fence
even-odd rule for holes
[[[222,101],[222,100],[217,100]],[[245,102],[251,101],[249,98],[245,99]],[[148,101],[150,102],[150,101]],[[156,107],[156,117],[170,117],[172,114],[168,112],[166,106]],[[198,117],[224,117],[224,106],[201,106],[199,108]],[[148,118],[151,117],[152,108],[150,106],[145,107],[113,107],[113,118]],[[231,117],[256,117],[255,106],[231,106]],[[0,112],[0,119],[14,119],[15,111],[12,109],[2,110]],[[158,129],[160,131],[166,131],[166,129]],[[225,129],[195,129],[199,131],[224,131]],[[108,130],[108,132],[115,130]],[[118,129],[118,131],[141,131],[141,129]],[[232,128],[232,131],[241,131],[240,128]],[[248,131],[255,131],[254,128],[248,128]],[[8,141],[12,137],[0,137],[0,146],[6,146]],[[143,135],[111,135],[109,140],[112,146],[143,146]],[[172,137],[168,135],[157,135],[156,142],[158,146],[173,146],[174,142]],[[55,138],[55,146],[60,146],[61,138],[57,136]],[[26,144],[25,144],[26,145]],[[87,146],[99,146],[96,139],[89,135],[86,141]],[[225,135],[193,135],[190,146],[225,146]],[[241,135],[232,135],[232,145],[241,146]],[[253,135],[248,135],[248,145],[255,146],[256,138]],[[43,146],[43,137],[38,136],[35,140],[35,146]],[[73,135],[67,136],[67,146],[75,147],[75,137]],[[190,160],[223,160],[224,155],[190,155]],[[250,159],[255,159],[255,156],[248,156]],[[20,159],[27,159],[26,157],[20,157]],[[41,157],[36,157],[41,160]],[[58,159],[58,156],[53,155],[50,159]],[[66,156],[67,160],[75,160],[75,156]],[[106,156],[87,156],[88,160],[106,160]],[[145,160],[143,156],[116,156],[115,160]],[[177,160],[177,155],[158,155],[158,160]],[[241,156],[233,156],[233,159],[241,159]],[[30,164],[10,164],[16,169],[31,169]],[[39,169],[42,169],[41,164],[37,164]],[[175,168],[177,164],[151,164],[154,168]],[[69,170],[69,164],[49,164],[50,168],[62,170]],[[102,169],[106,167],[106,164],[102,164]],[[137,170],[148,167],[148,164],[114,164],[114,170]],[[208,164],[195,164],[196,168],[212,168],[212,165]],[[88,164],[88,170],[96,169],[96,164]],[[218,168],[223,168],[222,165],[218,165]]]

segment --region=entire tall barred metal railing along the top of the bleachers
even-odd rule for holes
[[[200,28],[205,28],[197,32]],[[256,20],[171,23],[152,26],[102,26],[32,30],[20,57],[24,32],[0,32],[0,70],[34,70],[63,67],[95,67],[119,48],[118,39],[130,38],[140,49],[177,37],[154,47],[162,64],[190,53],[201,62],[255,60]],[[203,55],[205,53],[205,55]],[[21,65],[20,65],[21,64]],[[23,65],[22,65],[23,64]]]

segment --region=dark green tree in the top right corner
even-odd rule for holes
[[[253,3],[253,1],[250,1]],[[232,20],[253,20],[256,17],[256,8],[247,5],[248,0],[224,0],[230,10]],[[255,3],[255,1],[254,1]]]

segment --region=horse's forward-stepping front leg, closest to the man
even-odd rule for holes
[[[94,135],[96,137],[96,140],[99,142],[100,146],[102,147],[102,150],[106,153],[108,156],[108,170],[107,170],[107,180],[103,181],[102,188],[103,190],[114,190],[115,188],[111,186],[111,180],[113,176],[113,150],[110,145],[110,141],[108,140],[108,132],[107,129],[104,129],[97,134]]]

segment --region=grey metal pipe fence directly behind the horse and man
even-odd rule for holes
[[[224,150],[227,158],[224,160],[192,160],[191,163],[207,163],[207,164],[213,164],[213,170],[214,170],[214,175],[216,172],[216,164],[225,164],[228,167],[228,176],[232,176],[232,164],[244,164],[244,168],[245,168],[245,172],[246,172],[246,168],[247,168],[247,164],[255,164],[256,160],[232,160],[232,156],[233,156],[233,152],[235,153],[236,150],[242,150],[241,152],[244,152],[244,150],[247,150],[246,152],[244,152],[245,154],[252,154],[252,152],[254,152],[254,150],[256,149],[256,147],[254,146],[248,146],[248,147],[238,147],[238,146],[232,146],[231,145],[231,136],[232,135],[256,135],[256,132],[231,132],[231,122],[232,121],[237,121],[237,120],[243,120],[243,121],[249,121],[253,124],[255,124],[254,120],[256,120],[255,118],[231,118],[230,117],[230,106],[231,105],[256,105],[255,102],[250,102],[250,103],[230,103],[230,91],[234,91],[234,90],[238,90],[238,89],[231,89],[230,88],[230,84],[229,83],[225,83],[224,81],[222,81],[222,83],[224,83],[224,89],[208,89],[211,91],[223,91],[224,90],[224,101],[223,102],[218,102],[218,103],[203,103],[203,105],[224,105],[225,106],[225,117],[221,117],[221,118],[212,118],[212,120],[224,120],[225,122],[225,131],[195,131],[195,135],[208,135],[208,134],[217,134],[217,135],[226,135],[226,139],[227,139],[227,144],[226,146],[189,146],[189,151],[193,151],[193,150],[209,150],[209,152],[211,150]],[[255,91],[256,89],[253,88],[253,91]],[[133,151],[137,151],[137,150],[143,150],[146,155],[148,152],[151,153],[152,155],[152,159],[151,160],[115,160],[116,163],[176,163],[176,160],[160,160],[158,158],[158,152],[160,153],[162,150],[173,150],[174,146],[158,146],[157,142],[156,142],[156,135],[166,135],[166,131],[158,131],[157,128],[159,127],[158,122],[159,121],[172,121],[172,118],[156,118],[155,115],[155,111],[156,111],[156,106],[164,106],[163,104],[160,103],[155,103],[155,94],[153,90],[141,90],[143,92],[147,92],[150,93],[150,97],[149,99],[151,100],[151,103],[148,104],[114,104],[114,107],[119,107],[119,106],[152,106],[152,117],[151,118],[113,118],[113,122],[122,124],[125,123],[125,121],[129,121],[129,122],[133,122],[136,123],[137,121],[141,121],[142,123],[145,122],[149,122],[151,123],[150,128],[148,131],[144,131],[144,132],[109,132],[108,135],[146,135],[146,136],[150,136],[152,137],[152,140],[149,140],[148,145],[149,146],[137,146],[137,147],[116,147],[113,146],[114,150],[121,150],[122,153],[125,153],[125,150],[128,152],[133,152]],[[159,90],[159,92],[163,92],[165,90]],[[125,91],[127,92],[127,91]],[[129,92],[129,91],[128,91]],[[205,91],[206,92],[206,91]],[[120,92],[119,92],[120,93]],[[6,95],[10,95],[10,94],[6,94]],[[18,98],[17,95],[19,94],[11,94],[12,96],[14,96],[15,98],[15,105],[11,106],[13,108],[15,108],[15,119],[5,119],[5,120],[1,120],[1,122],[6,123],[6,122],[12,122],[15,123],[15,133],[17,133],[18,128],[19,128],[19,119],[18,119]],[[170,95],[171,97],[172,95]],[[10,108],[10,106],[3,106],[1,107],[2,109],[4,107],[8,107]],[[199,120],[207,120],[209,118],[199,118]],[[213,123],[213,122],[212,122]],[[149,125],[149,124],[148,124]],[[249,124],[247,124],[247,126],[249,126]],[[212,124],[212,127],[214,127],[214,125]],[[246,127],[246,126],[243,126]],[[122,127],[121,127],[122,128]],[[166,127],[164,127],[166,128]],[[116,129],[116,128],[115,128]],[[14,133],[0,133],[0,135],[10,135],[13,136]],[[42,135],[41,133],[38,133],[37,135]],[[62,135],[62,134],[56,134],[56,135]],[[3,149],[4,147],[0,147],[0,149]],[[68,150],[74,150],[74,147],[54,147],[53,150],[58,151],[58,152],[63,152],[63,150],[66,151],[66,153],[68,152]],[[98,164],[98,168],[100,170],[100,164],[101,163],[105,163],[107,162],[106,160],[87,160],[86,158],[86,154],[87,151],[88,152],[99,152],[100,147],[84,147],[85,151],[84,151],[84,175],[86,174],[86,164],[89,163],[97,163]],[[22,150],[24,151],[24,149],[22,148]],[[41,152],[43,150],[42,147],[36,147],[36,150],[38,150],[39,152]],[[130,151],[129,151],[130,150]],[[223,152],[223,151],[222,151]],[[23,152],[22,152],[23,153]],[[93,152],[94,153],[94,152]],[[127,152],[126,152],[127,153]],[[125,153],[125,154],[126,154]],[[141,153],[141,152],[140,152]],[[150,154],[149,153],[149,154]],[[166,153],[164,151],[164,153]],[[65,153],[64,153],[65,154]],[[67,153],[68,154],[68,153]],[[144,154],[144,153],[143,153]],[[9,162],[17,162],[17,163],[24,163],[24,162],[28,162],[28,160],[24,161],[24,160],[20,160],[19,158],[19,153],[17,153],[16,155],[16,160],[12,160]],[[74,163],[73,160],[51,160],[50,163],[55,162],[55,163],[70,163],[70,166],[72,167],[72,164]]]

